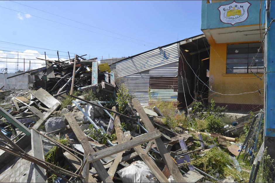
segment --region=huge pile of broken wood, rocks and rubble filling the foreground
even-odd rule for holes
[[[35,90],[5,97],[12,104],[0,107],[2,182],[218,181],[195,167],[190,155],[203,157],[219,145],[230,149],[227,141],[235,138],[207,132],[195,137],[183,128],[179,134],[158,122],[164,115],[157,107],[145,109],[135,98],[117,102],[114,72],[83,56],[45,60],[45,68],[28,71],[38,77]],[[219,144],[202,135],[217,137]]]

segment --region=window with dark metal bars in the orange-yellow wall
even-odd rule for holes
[[[226,73],[254,73],[264,72],[264,59],[261,43],[228,44],[226,54]],[[250,66],[251,65],[251,66]]]

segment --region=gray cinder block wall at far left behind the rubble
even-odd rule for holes
[[[14,78],[7,79],[7,77],[14,76],[18,73],[0,74],[0,87],[3,89],[27,90],[29,85],[29,75],[23,74]]]

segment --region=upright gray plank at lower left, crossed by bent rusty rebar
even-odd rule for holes
[[[31,139],[33,156],[35,158],[45,161],[41,136],[34,130],[31,130]],[[46,182],[47,176],[44,168],[38,166],[37,164],[34,164],[33,173],[35,174],[33,182]]]

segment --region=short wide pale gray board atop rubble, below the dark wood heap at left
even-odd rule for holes
[[[32,95],[49,108],[53,107],[56,103],[60,104],[56,98],[54,98],[43,88],[39,88],[38,90],[34,91]]]

